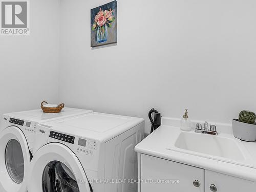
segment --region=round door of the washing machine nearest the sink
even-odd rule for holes
[[[70,148],[61,143],[46,144],[35,153],[29,178],[28,191],[91,191],[80,161]]]

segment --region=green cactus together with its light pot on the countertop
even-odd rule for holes
[[[256,115],[251,111],[241,111],[238,119],[233,119],[233,135],[244,141],[256,140]]]

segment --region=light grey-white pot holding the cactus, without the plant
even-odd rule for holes
[[[234,137],[253,142],[256,140],[256,124],[240,122],[238,119],[232,120]]]

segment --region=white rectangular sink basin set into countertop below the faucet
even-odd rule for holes
[[[243,143],[231,135],[180,132],[167,150],[256,168]]]

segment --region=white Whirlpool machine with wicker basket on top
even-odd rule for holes
[[[0,126],[0,191],[27,191],[28,168],[38,123],[91,112],[64,108],[55,114],[32,110],[3,115]]]

